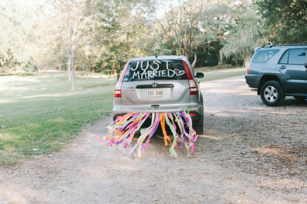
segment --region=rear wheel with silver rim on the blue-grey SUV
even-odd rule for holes
[[[261,86],[260,96],[268,106],[278,106],[284,102],[284,91],[278,81],[268,81]]]

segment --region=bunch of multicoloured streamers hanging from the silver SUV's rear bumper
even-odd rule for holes
[[[151,123],[147,128],[141,128],[143,123],[151,116]],[[181,146],[185,146],[189,156],[189,152],[194,152],[194,142],[198,135],[192,128],[192,120],[188,113],[188,108],[180,108],[178,112],[156,112],[156,113],[129,113],[117,118],[107,128],[109,134],[101,139],[97,139],[106,146],[118,145],[123,147],[124,153],[141,157],[141,153],[147,148],[149,141],[156,132],[159,125],[162,128],[165,146],[170,145],[170,155],[177,157],[174,148],[178,147],[179,138],[182,139]],[[166,125],[169,127],[173,140],[167,134]],[[136,138],[136,132],[140,132],[140,137]],[[127,152],[127,148],[131,141],[136,140],[137,143]]]

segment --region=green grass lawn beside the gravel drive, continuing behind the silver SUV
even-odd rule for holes
[[[204,72],[201,81],[242,76],[228,68]],[[72,92],[65,72],[0,75],[0,165],[14,165],[68,145],[84,125],[111,114],[116,78],[76,75]]]

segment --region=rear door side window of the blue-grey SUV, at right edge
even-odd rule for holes
[[[306,49],[290,49],[282,56],[280,64],[304,64]]]

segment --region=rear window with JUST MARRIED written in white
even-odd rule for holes
[[[184,80],[186,71],[180,59],[130,61],[123,82],[146,80]]]

